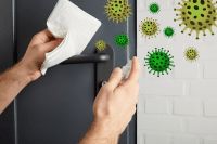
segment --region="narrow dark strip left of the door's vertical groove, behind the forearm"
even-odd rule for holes
[[[13,64],[12,0],[0,0],[0,73]],[[0,143],[14,143],[13,103],[0,115]]]

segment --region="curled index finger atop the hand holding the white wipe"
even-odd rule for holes
[[[33,37],[29,45],[33,47],[37,44],[42,44],[51,41],[52,39],[54,39],[53,35],[48,29],[44,29]]]

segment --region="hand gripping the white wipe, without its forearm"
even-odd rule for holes
[[[36,34],[24,57],[17,64],[20,69],[24,70],[23,73],[29,76],[31,81],[38,79],[41,76],[40,67],[46,58],[46,53],[55,49],[61,41],[62,39],[55,39],[48,29]]]

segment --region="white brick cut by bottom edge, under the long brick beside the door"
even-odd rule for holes
[[[144,144],[170,144],[170,138],[161,134],[145,134]]]

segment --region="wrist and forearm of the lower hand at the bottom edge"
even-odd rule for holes
[[[111,133],[105,125],[93,122],[79,144],[117,144],[118,136]]]

